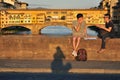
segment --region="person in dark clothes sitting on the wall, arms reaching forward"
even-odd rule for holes
[[[100,48],[100,50],[98,50],[98,53],[102,53],[105,50],[105,46],[106,46],[105,40],[107,37],[111,37],[112,33],[114,32],[114,29],[113,29],[114,24],[110,19],[110,14],[104,15],[104,21],[105,21],[104,26],[96,25],[97,27],[99,27],[101,29],[100,37],[102,39],[101,48]]]

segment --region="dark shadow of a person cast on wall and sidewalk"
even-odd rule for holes
[[[52,73],[68,73],[72,68],[69,62],[63,62],[65,55],[59,46],[56,47],[56,52],[53,57],[54,60],[51,63]]]

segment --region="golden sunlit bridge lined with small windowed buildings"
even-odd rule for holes
[[[76,15],[82,13],[87,26],[103,24],[106,10],[94,9],[28,9],[28,10],[0,10],[0,28],[21,26],[31,30],[32,34],[39,34],[47,26],[65,26],[72,28],[72,21]]]

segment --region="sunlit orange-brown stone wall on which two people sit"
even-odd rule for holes
[[[107,39],[106,51],[98,54],[101,40],[81,40],[79,48],[85,48],[88,60],[120,61],[120,39]],[[74,60],[71,37],[41,35],[0,36],[0,59]]]

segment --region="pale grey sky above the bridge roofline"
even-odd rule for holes
[[[86,9],[96,7],[101,0],[19,0],[29,4],[28,7],[51,9]]]

